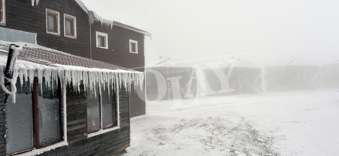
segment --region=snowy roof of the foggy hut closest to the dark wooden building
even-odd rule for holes
[[[146,63],[146,67],[179,67],[179,68],[188,67],[188,68],[192,68],[191,65],[186,64],[174,58],[162,58],[162,59],[152,60]]]

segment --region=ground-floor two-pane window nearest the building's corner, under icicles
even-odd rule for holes
[[[89,89],[89,88],[88,88]],[[87,92],[87,130],[88,133],[94,133],[99,130],[116,127],[117,121],[117,100],[115,92],[109,92],[96,86],[95,93]],[[97,97],[95,97],[97,94]]]

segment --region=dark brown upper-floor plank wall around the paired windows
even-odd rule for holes
[[[46,33],[46,8],[60,13],[60,36]],[[77,38],[64,37],[64,14],[76,17]],[[90,23],[88,15],[72,0],[6,0],[6,26],[37,33],[37,44],[70,54],[90,58]]]

